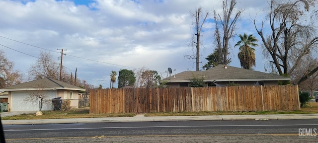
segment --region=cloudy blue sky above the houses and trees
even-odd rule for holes
[[[14,70],[27,77],[40,52],[49,52],[81,80],[98,87],[110,85],[110,72],[121,69],[158,71],[167,77],[167,69],[195,71],[195,59],[189,46],[194,29],[190,12],[202,7],[209,12],[201,33],[200,67],[214,50],[213,10],[221,14],[222,0],[0,0],[0,49],[14,63]],[[265,19],[266,0],[238,0],[243,9],[238,29],[230,41],[229,64],[239,67],[238,34],[260,37],[251,22],[260,26]],[[265,27],[266,28],[266,27]],[[267,62],[261,43],[256,51],[255,71],[264,71]],[[114,84],[117,87],[117,83]]]

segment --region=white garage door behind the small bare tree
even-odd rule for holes
[[[12,91],[12,105],[11,111],[38,111],[40,100],[34,102],[26,102],[26,98],[30,96],[32,91]],[[47,90],[45,91],[46,99],[53,99],[56,97],[56,91],[54,90]],[[48,104],[44,104],[42,107],[42,111],[45,110],[52,110],[52,104],[48,102]]]

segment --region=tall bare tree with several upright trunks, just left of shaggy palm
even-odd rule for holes
[[[218,14],[214,10],[215,42],[216,51],[218,53],[218,63],[227,65],[231,62],[229,58],[229,40],[233,38],[235,30],[237,30],[237,20],[243,10],[236,10],[237,0],[224,0],[222,4],[223,13]]]

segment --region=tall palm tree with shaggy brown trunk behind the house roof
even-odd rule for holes
[[[244,33],[242,36],[239,34],[239,42],[235,45],[239,46],[239,62],[240,66],[244,69],[251,70],[255,66],[255,49],[252,47],[258,46],[255,42],[258,40],[252,34],[248,35]]]

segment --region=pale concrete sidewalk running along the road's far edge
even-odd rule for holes
[[[39,120],[3,120],[2,125],[66,124],[66,123],[106,123],[106,122],[160,122],[160,121],[203,121],[203,120],[294,120],[318,119],[318,114],[270,114],[270,115],[215,115],[215,116],[156,116],[71,118]]]

